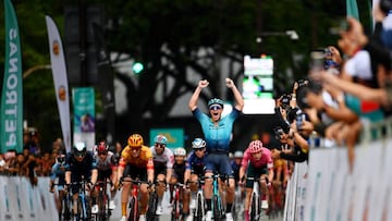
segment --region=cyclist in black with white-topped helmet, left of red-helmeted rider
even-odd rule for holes
[[[73,151],[69,152],[65,158],[65,183],[70,186],[71,183],[79,183],[88,181],[87,187],[91,189],[97,182],[98,170],[97,163],[91,151],[87,151],[85,143],[76,143]],[[73,211],[77,213],[77,198],[79,185],[72,185]]]

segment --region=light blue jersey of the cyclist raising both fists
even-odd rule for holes
[[[211,118],[198,108],[193,111],[193,115],[200,122],[207,144],[207,152],[229,151],[233,124],[241,113],[234,108],[232,112],[220,119],[218,125],[215,125]]]

